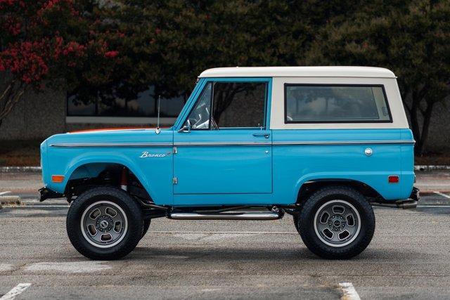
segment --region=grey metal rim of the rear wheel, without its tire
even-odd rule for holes
[[[331,247],[344,247],[358,236],[361,218],[356,208],[344,200],[323,204],[314,216],[317,237]]]

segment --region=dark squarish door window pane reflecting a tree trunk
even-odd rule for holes
[[[266,82],[214,82],[212,126],[216,129],[264,126]]]

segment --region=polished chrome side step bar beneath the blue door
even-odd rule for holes
[[[200,213],[200,212],[174,212],[169,213],[167,218],[174,220],[278,220],[283,218],[284,211],[278,212],[264,211],[229,211],[226,213]]]

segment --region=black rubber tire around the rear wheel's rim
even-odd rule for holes
[[[345,244],[346,242],[342,242],[342,245],[334,244],[333,246],[326,244],[326,237],[319,237],[319,230],[316,231],[315,229],[316,214],[319,214],[319,209],[327,205],[332,205],[335,201],[343,201],[351,204],[360,217],[360,220],[358,220],[358,224],[361,224],[358,226],[359,231],[355,230],[352,238],[349,238],[347,241],[349,244]],[[332,209],[334,210],[335,208],[333,207]],[[324,222],[322,224],[328,226],[328,221]],[[347,225],[350,223],[347,222]],[[298,229],[304,244],[314,254],[324,259],[350,259],[363,252],[371,242],[373,233],[375,232],[375,215],[373,214],[371,205],[358,191],[345,186],[330,186],[317,190],[304,202],[300,210]],[[336,228],[336,230],[340,229]],[[330,233],[333,233],[333,231],[330,230]]]

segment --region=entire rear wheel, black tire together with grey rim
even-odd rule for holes
[[[371,242],[375,215],[358,191],[327,187],[309,196],[300,211],[298,229],[311,252],[325,259],[349,259]]]

